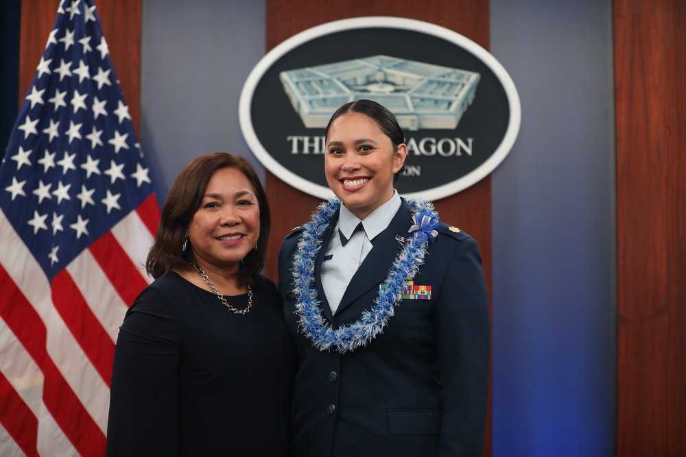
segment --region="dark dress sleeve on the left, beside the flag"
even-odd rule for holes
[[[178,455],[182,326],[173,301],[148,286],[119,328],[110,387],[108,457]]]

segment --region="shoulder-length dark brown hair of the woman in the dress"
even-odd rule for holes
[[[184,236],[193,214],[200,207],[212,173],[224,168],[234,168],[243,173],[257,196],[260,225],[257,249],[251,249],[243,259],[238,280],[241,284],[259,281],[272,221],[267,194],[250,162],[228,152],[213,152],[196,158],[185,166],[171,186],[162,208],[157,235],[145,263],[147,273],[155,279],[168,275],[173,269],[184,271],[191,268],[192,248],[183,251]]]

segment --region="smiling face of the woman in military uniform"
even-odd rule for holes
[[[393,174],[405,162],[407,147],[393,144],[365,114],[348,112],[329,127],[324,171],[333,193],[359,219],[393,196]]]

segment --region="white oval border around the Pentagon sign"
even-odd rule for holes
[[[246,139],[246,143],[255,154],[257,159],[265,166],[266,169],[274,173],[281,180],[293,186],[299,190],[302,190],[309,195],[314,195],[322,199],[328,199],[333,196],[333,192],[328,187],[320,186],[319,184],[314,184],[303,177],[300,177],[289,171],[285,166],[281,165],[279,162],[274,160],[270,153],[263,147],[260,143],[257,134],[255,134],[255,129],[252,127],[252,119],[250,117],[250,106],[252,103],[252,96],[255,94],[255,88],[259,84],[263,75],[270,69],[272,64],[279,60],[283,55],[292,49],[302,45],[305,42],[314,40],[314,38],[319,38],[320,36],[329,35],[335,32],[341,32],[343,30],[351,29],[364,29],[364,28],[391,28],[391,29],[405,29],[412,30],[413,32],[421,32],[427,35],[437,36],[443,40],[453,42],[455,45],[466,49],[466,51],[471,52],[477,58],[479,58],[488,68],[493,71],[496,77],[499,79],[500,83],[503,85],[505,90],[508,105],[510,108],[510,119],[508,122],[508,127],[505,132],[505,136],[498,145],[497,149],[491,154],[491,156],[478,166],[471,173],[464,175],[458,180],[449,182],[442,186],[435,188],[430,188],[427,190],[421,190],[418,193],[407,194],[406,196],[416,195],[429,200],[438,200],[449,195],[460,192],[476,184],[480,180],[484,179],[490,172],[495,170],[495,168],[505,160],[506,156],[512,149],[514,145],[514,140],[519,134],[519,127],[521,125],[521,103],[519,101],[519,94],[517,93],[517,88],[514,87],[514,82],[504,69],[504,67],[498,62],[493,55],[491,55],[486,49],[477,45],[469,38],[463,35],[453,32],[450,29],[441,27],[440,25],[431,24],[423,21],[416,21],[415,19],[390,17],[390,16],[366,16],[359,18],[349,18],[342,19],[340,21],[333,21],[329,23],[324,23],[312,27],[310,29],[304,30],[287,40],[284,40],[279,45],[274,47],[269,51],[252,69],[246,83],[241,90],[241,98],[238,106],[238,115],[241,125],[241,131]],[[322,173],[324,170],[322,169]]]

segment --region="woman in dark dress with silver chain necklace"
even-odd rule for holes
[[[244,158],[188,164],[162,211],[155,278],[119,330],[107,455],[287,456],[296,356],[261,275],[265,192]]]

